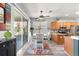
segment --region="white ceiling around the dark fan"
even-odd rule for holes
[[[17,5],[29,17],[38,17],[43,10],[43,15],[51,17],[79,18],[79,3],[18,3]],[[51,13],[49,13],[50,10],[52,10]]]

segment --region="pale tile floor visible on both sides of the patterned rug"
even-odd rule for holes
[[[57,45],[55,42],[51,42],[51,41],[48,41],[48,43],[51,46],[52,53],[47,54],[47,55],[49,55],[49,56],[67,56],[66,52],[64,51],[63,45]],[[28,56],[29,54],[27,54],[27,46],[28,46],[28,43],[25,44],[25,46],[19,50],[19,52],[17,53],[17,56]]]

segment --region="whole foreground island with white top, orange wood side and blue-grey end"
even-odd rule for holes
[[[79,56],[79,37],[65,36],[64,49],[68,55]]]

